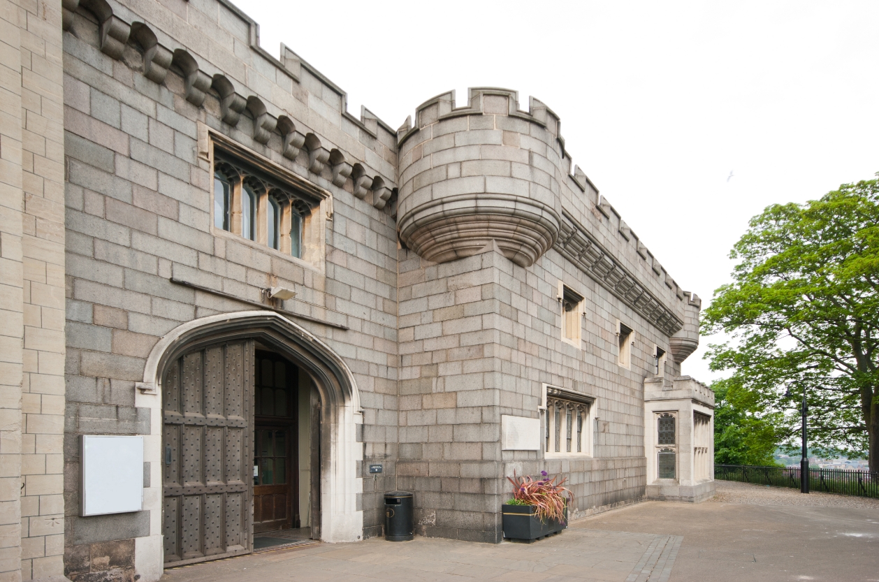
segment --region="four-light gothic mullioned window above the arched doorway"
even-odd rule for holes
[[[264,164],[265,163],[261,163]],[[313,196],[214,146],[214,228],[303,258]]]

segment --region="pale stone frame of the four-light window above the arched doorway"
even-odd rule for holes
[[[209,165],[209,196],[210,196],[210,231],[214,236],[234,240],[238,244],[245,244],[254,250],[268,252],[272,255],[302,266],[323,273],[326,268],[326,241],[324,231],[326,229],[327,220],[332,220],[332,194],[309,180],[298,176],[293,171],[287,170],[261,156],[257,152],[244,147],[242,144],[235,142],[229,136],[222,135],[211,127],[199,123],[199,141],[205,143],[200,145],[200,150],[207,150],[207,156],[201,156],[206,159]],[[215,156],[215,152],[219,156]],[[223,162],[236,167],[243,166],[245,174],[251,173],[251,168],[255,169],[253,173],[258,174],[264,182],[272,185],[272,190],[280,190],[290,200],[282,204],[281,228],[280,228],[280,249],[273,249],[266,244],[266,224],[265,210],[268,204],[267,192],[258,197],[257,209],[257,234],[256,240],[244,238],[241,236],[240,210],[238,223],[233,217],[230,220],[230,230],[219,229],[214,226],[214,166],[215,158],[219,157]],[[236,203],[240,205],[242,180],[237,180],[237,185],[233,185],[233,193],[231,193],[231,206],[234,211]],[[301,215],[301,257],[294,257],[290,254],[290,237],[289,227],[291,220],[291,208],[296,204]],[[240,207],[240,206],[239,206]],[[286,231],[286,236],[285,236]]]

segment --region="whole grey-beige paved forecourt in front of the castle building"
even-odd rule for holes
[[[787,490],[723,482],[717,489],[714,501],[644,502],[533,544],[316,543],[168,570],[162,582],[879,581],[875,502],[794,499],[803,506],[791,505]]]

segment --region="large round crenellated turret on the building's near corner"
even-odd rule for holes
[[[531,266],[559,231],[563,144],[559,122],[532,98],[519,111],[516,91],[454,91],[419,105],[415,125],[398,130],[397,224],[422,258],[469,257],[494,240],[514,263]]]

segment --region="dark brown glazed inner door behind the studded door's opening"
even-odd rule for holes
[[[254,533],[299,527],[299,368],[257,352],[253,454]]]

